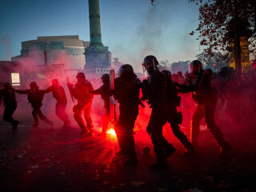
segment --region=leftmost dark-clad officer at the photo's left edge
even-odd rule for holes
[[[17,108],[17,102],[15,93],[13,90],[10,90],[11,86],[9,82],[6,82],[4,84],[4,89],[0,90],[0,97],[3,100],[5,110],[3,112],[3,120],[6,122],[10,122],[10,124],[13,126],[13,129],[17,129],[18,127],[18,121],[14,120],[12,115],[14,114],[14,111]]]

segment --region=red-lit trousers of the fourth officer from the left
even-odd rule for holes
[[[94,126],[93,126],[93,121],[90,117],[90,109],[91,109],[91,103],[89,102],[86,105],[75,105],[73,108],[74,111],[74,119],[76,122],[78,122],[78,125],[82,130],[89,130],[92,131]],[[84,118],[86,119],[85,121],[82,119],[82,112],[84,114]]]

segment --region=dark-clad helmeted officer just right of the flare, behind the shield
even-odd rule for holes
[[[120,115],[114,129],[118,137],[121,153],[128,155],[125,166],[136,166],[138,158],[134,144],[134,123],[138,116],[140,81],[132,66],[120,68],[120,77],[114,80],[114,97],[118,101]]]

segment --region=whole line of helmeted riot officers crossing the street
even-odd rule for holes
[[[134,124],[138,117],[138,106],[142,105],[142,101],[146,101],[152,109],[146,127],[146,132],[150,135],[157,157],[157,162],[152,166],[152,169],[166,167],[166,158],[169,158],[175,151],[174,146],[167,142],[162,134],[162,127],[167,122],[170,123],[174,136],[186,148],[184,157],[190,157],[198,151],[199,126],[202,118],[205,118],[207,129],[221,146],[221,157],[226,157],[230,154],[231,146],[226,142],[222,131],[215,123],[214,111],[218,102],[225,102],[226,116],[231,126],[239,125],[235,121],[238,120],[238,115],[242,115],[245,111],[250,111],[251,115],[256,116],[253,96],[256,94],[256,90],[255,86],[251,86],[256,80],[255,71],[241,75],[235,74],[235,71],[230,67],[224,67],[218,74],[214,74],[211,70],[203,70],[202,63],[194,60],[190,63],[191,73],[186,73],[183,77],[181,72],[171,74],[168,70],[159,71],[158,60],[153,55],[146,56],[142,66],[149,77],[141,82],[134,74],[132,66],[129,64],[122,65],[118,72],[118,78],[114,79],[114,90],[110,90],[109,74],[102,75],[102,86],[97,90],[94,90],[82,72],[76,75],[77,82],[74,85],[68,83],[72,99],[77,100],[77,104],[73,107],[74,119],[82,129],[81,134],[87,137],[94,135],[94,125],[90,116],[94,95],[100,94],[102,96],[106,110],[102,118],[102,133],[100,134],[102,137],[106,137],[106,130],[110,122],[110,96],[114,96],[116,102],[119,103],[120,114],[114,129],[120,146],[117,155],[128,157],[125,166],[138,165],[134,143]],[[140,98],[140,90],[142,90],[142,98]],[[62,120],[64,127],[70,126],[70,118],[66,113],[66,93],[58,79],[53,79],[52,85],[46,90],[39,89],[36,82],[30,83],[29,90],[16,90],[10,83],[6,82],[3,89],[0,90],[5,105],[3,119],[10,122],[14,130],[17,129],[19,122],[12,117],[17,108],[15,93],[26,94],[33,109],[33,126],[38,127],[38,118],[40,118],[49,126],[54,127],[54,123],[46,118],[41,110],[44,95],[50,92],[57,101],[56,115]],[[177,110],[177,107],[181,106],[181,100],[183,100],[181,95],[187,95],[188,92],[192,93],[192,99],[195,103],[195,110],[191,119],[190,140],[180,129],[182,113]],[[191,103],[182,101],[183,110],[186,110],[186,106],[190,105]],[[82,114],[84,118],[82,118]]]

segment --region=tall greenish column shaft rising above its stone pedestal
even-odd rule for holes
[[[101,20],[98,0],[88,0],[90,18],[90,43],[102,45]]]

